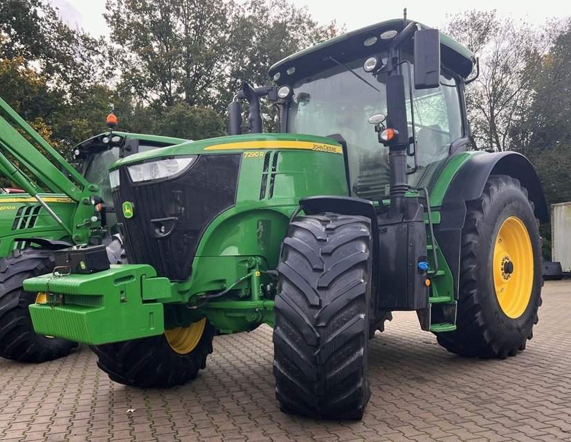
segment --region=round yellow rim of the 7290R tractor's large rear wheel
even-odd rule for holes
[[[493,247],[493,285],[507,317],[523,315],[534,283],[534,253],[525,224],[510,216],[504,221]]]

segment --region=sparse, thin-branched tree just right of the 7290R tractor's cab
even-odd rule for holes
[[[546,35],[523,21],[500,21],[495,10],[456,15],[445,32],[480,57],[480,76],[466,89],[478,145],[498,151],[520,149],[511,134],[532,104],[528,62],[545,52]]]

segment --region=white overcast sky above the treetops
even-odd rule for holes
[[[78,24],[92,35],[107,33],[105,0],[50,0],[60,8],[60,13],[70,24]],[[291,1],[291,0],[290,0]],[[567,0],[543,1],[427,1],[408,0],[406,2],[372,0],[293,0],[297,6],[307,6],[311,17],[320,24],[336,20],[338,25],[346,24],[347,30],[354,30],[386,19],[402,17],[407,8],[408,18],[420,21],[427,26],[440,27],[448,21],[447,15],[455,15],[470,9],[498,11],[498,16],[511,19],[525,19],[539,26],[547,19],[571,16],[571,2]],[[516,6],[517,5],[517,6]]]

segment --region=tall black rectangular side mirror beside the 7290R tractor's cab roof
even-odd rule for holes
[[[415,33],[415,89],[440,85],[440,33],[421,29]]]

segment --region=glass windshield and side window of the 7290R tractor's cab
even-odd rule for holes
[[[368,119],[374,114],[386,115],[386,74],[374,77],[365,72],[364,61],[343,63],[343,66],[294,84],[288,132],[321,136],[341,134],[347,141],[352,195],[376,200],[389,193],[389,158],[388,148],[379,143],[374,126]],[[413,71],[412,61],[409,62]],[[409,136],[413,136],[406,64],[402,70]],[[414,136],[418,143],[419,167],[408,178],[411,186],[428,186],[439,164],[448,157],[451,143],[462,136],[458,96],[457,82],[444,71],[439,87],[413,89]],[[410,157],[410,170],[413,166],[414,160]]]

